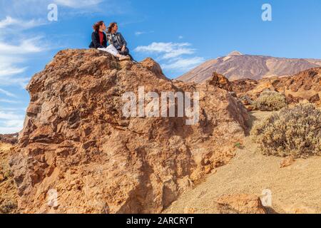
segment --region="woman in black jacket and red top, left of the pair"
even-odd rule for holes
[[[89,48],[107,51],[113,56],[118,57],[121,61],[130,60],[131,57],[118,53],[117,49],[112,45],[112,43],[107,46],[107,37],[103,31],[106,31],[106,25],[103,21],[98,21],[93,25],[93,33],[91,34],[91,44],[89,45]]]

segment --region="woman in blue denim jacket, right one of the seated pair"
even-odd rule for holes
[[[130,56],[131,60],[133,57],[129,54],[129,49],[127,48],[127,42],[121,33],[118,33],[118,24],[116,22],[112,22],[108,26],[107,31],[107,40],[108,43],[113,44],[113,46],[117,49],[118,53],[124,56]]]

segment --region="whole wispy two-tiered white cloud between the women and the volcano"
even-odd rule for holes
[[[157,58],[165,61],[161,66],[170,71],[188,71],[205,61],[202,57],[188,57],[196,52],[191,43],[151,43],[148,46],[138,46],[136,52],[156,54]]]

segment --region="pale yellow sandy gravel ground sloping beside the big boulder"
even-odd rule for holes
[[[270,113],[253,112],[258,121]],[[248,137],[230,164],[218,168],[205,182],[185,192],[165,213],[217,213],[216,199],[223,195],[262,195],[272,191],[272,209],[321,213],[321,157],[299,159],[280,168],[281,157],[265,156]]]

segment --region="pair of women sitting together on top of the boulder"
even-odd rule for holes
[[[89,48],[96,48],[101,51],[107,51],[113,56],[119,58],[120,61],[123,60],[133,60],[129,55],[129,50],[126,47],[127,42],[125,38],[118,33],[118,26],[116,22],[113,22],[108,26],[107,35],[104,33],[106,31],[106,25],[103,21],[98,21],[93,25],[93,33],[91,34],[91,44]],[[107,46],[107,43],[109,44]]]

